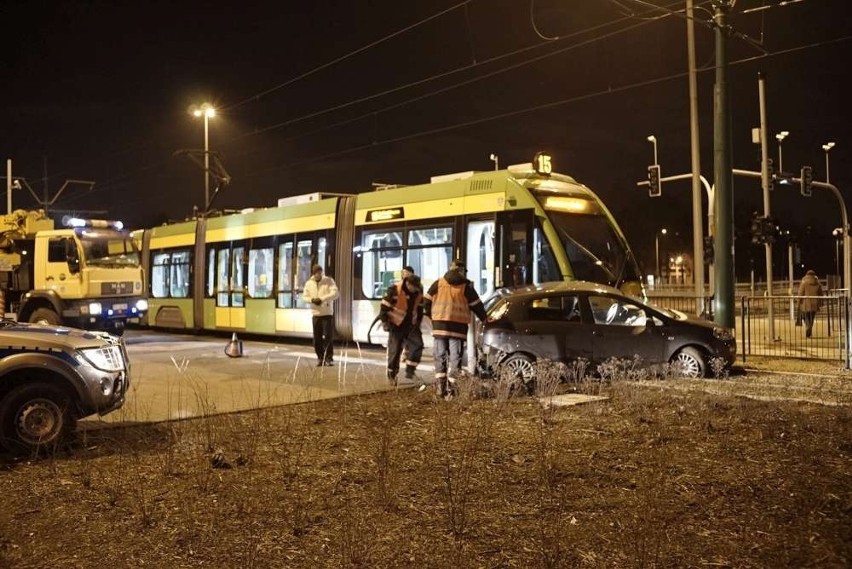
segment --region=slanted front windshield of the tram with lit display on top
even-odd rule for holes
[[[597,202],[573,196],[538,198],[565,247],[575,279],[615,287],[640,280],[627,243]]]

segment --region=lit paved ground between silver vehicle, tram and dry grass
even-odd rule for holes
[[[124,407],[106,422],[200,417],[394,389],[384,352],[338,347],[334,367],[317,367],[310,345],[243,340],[243,355],[225,353],[227,338],[129,330],[132,383]],[[431,362],[420,375],[431,375]],[[414,386],[401,383],[400,388]]]

